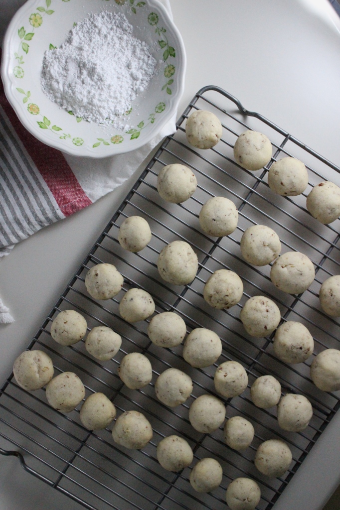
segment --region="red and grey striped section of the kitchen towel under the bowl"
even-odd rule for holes
[[[63,154],[34,138],[0,83],[0,256],[92,202]]]

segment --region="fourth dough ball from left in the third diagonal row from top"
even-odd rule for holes
[[[239,314],[248,335],[262,338],[273,333],[279,325],[281,314],[277,305],[264,296],[248,299]]]

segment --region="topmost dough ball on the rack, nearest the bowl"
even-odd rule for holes
[[[191,113],[185,124],[186,139],[198,149],[210,149],[222,138],[222,124],[206,110]]]

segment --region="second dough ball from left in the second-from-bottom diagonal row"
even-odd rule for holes
[[[93,327],[85,340],[85,348],[97,360],[107,361],[115,356],[122,345],[122,338],[110,327]]]

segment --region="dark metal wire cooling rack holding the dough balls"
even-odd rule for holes
[[[210,110],[222,121],[223,138],[212,149],[194,150],[186,143],[183,125],[196,109]],[[91,510],[220,510],[226,507],[228,483],[237,476],[255,479],[261,488],[257,508],[270,509],[334,416],[339,397],[325,394],[311,384],[311,358],[299,365],[285,365],[273,354],[273,335],[264,339],[247,336],[239,311],[248,297],[264,294],[278,304],[282,321],[301,321],[309,328],[315,343],[314,355],[325,347],[338,347],[338,323],[320,309],[318,292],[329,275],[339,272],[340,224],[339,220],[331,226],[318,223],[307,213],[305,198],[313,185],[324,180],[323,175],[340,184],[339,168],[261,115],[246,111],[237,99],[218,87],[201,89],[177,126],[176,134],[165,139],[148,163],[29,345],[29,349],[43,349],[51,355],[56,374],[75,371],[84,382],[86,396],[104,392],[114,401],[118,414],[131,409],[142,411],[152,423],[152,441],[141,451],[126,450],[113,443],[109,429],[87,431],[79,420],[79,410],[67,415],[58,413],[47,405],[43,389],[25,392],[11,375],[1,389],[0,437],[17,451],[7,451],[4,443],[0,452],[19,456],[25,469]],[[248,172],[233,161],[233,144],[245,129],[261,131],[272,141],[274,156],[262,171]],[[303,195],[280,197],[266,183],[270,165],[284,156],[294,156],[308,168],[309,184]],[[175,162],[190,167],[198,179],[197,191],[182,205],[165,203],[155,187],[160,168]],[[201,232],[198,214],[203,203],[216,195],[236,203],[239,222],[231,236],[213,240]],[[117,242],[118,228],[126,217],[134,214],[149,221],[153,237],[140,253],[127,253]],[[274,228],[280,236],[282,251],[299,250],[311,258],[316,277],[308,291],[298,296],[284,294],[271,283],[270,266],[255,268],[242,260],[241,235],[255,223]],[[166,284],[157,272],[160,250],[175,239],[186,240],[198,253],[197,277],[185,287]],[[105,302],[93,300],[84,286],[86,271],[100,262],[115,264],[125,282],[122,293]],[[211,309],[202,295],[207,278],[219,268],[236,271],[244,282],[242,300],[229,311]],[[244,394],[226,400],[226,408],[227,418],[241,415],[254,425],[255,438],[246,451],[229,449],[223,441],[222,428],[204,435],[191,427],[189,406],[203,393],[214,394],[213,374],[217,364],[194,369],[184,362],[182,346],[162,349],[149,341],[148,321],[128,324],[121,319],[119,300],[124,292],[136,286],[151,292],[156,313],[174,310],[181,315],[188,331],[195,327],[213,329],[223,343],[218,364],[233,359],[245,366],[249,387]],[[51,339],[51,322],[59,311],[69,308],[86,317],[89,330],[96,325],[108,325],[122,336],[122,349],[114,360],[99,363],[88,355],[84,342],[62,347]],[[151,384],[138,391],[126,388],[117,376],[120,360],[132,351],[145,353],[153,366]],[[175,409],[161,404],[154,393],[157,375],[172,366],[184,370],[193,379],[193,394]],[[313,417],[303,432],[281,430],[275,409],[261,410],[252,404],[249,388],[263,374],[277,377],[283,393],[301,393],[310,399]],[[169,473],[159,466],[156,446],[160,439],[172,433],[178,433],[192,446],[194,463],[206,456],[221,463],[224,474],[220,488],[210,494],[196,493],[189,483],[190,467],[180,473]],[[292,466],[282,478],[266,478],[254,466],[257,446],[270,438],[281,438],[292,449]]]

